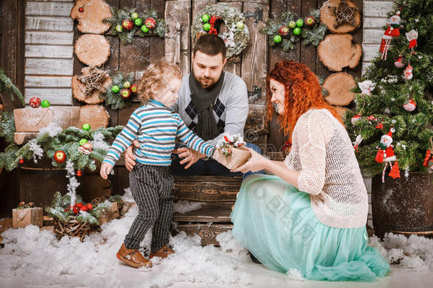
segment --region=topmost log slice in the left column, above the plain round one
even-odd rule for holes
[[[80,7],[84,11],[80,12]],[[102,19],[110,18],[113,14],[104,0],[77,0],[70,16],[78,21],[77,28],[82,33],[102,34],[111,26],[109,23],[102,23]]]

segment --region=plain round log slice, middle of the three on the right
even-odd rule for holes
[[[350,34],[331,34],[320,42],[317,48],[319,59],[331,71],[339,72],[349,66],[355,68],[362,55],[359,44],[352,43]]]

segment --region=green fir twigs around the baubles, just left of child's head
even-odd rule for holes
[[[133,73],[124,75],[124,73],[119,72],[111,78],[111,82],[113,82],[113,84],[106,89],[106,93],[99,96],[105,100],[105,105],[109,105],[112,110],[117,110],[125,107],[126,105],[130,105],[132,96],[127,99],[121,97],[121,90],[124,89],[125,82],[134,82]],[[113,92],[114,85],[120,88],[119,92]]]

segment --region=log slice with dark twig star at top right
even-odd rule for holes
[[[361,25],[361,13],[359,13],[359,10],[354,13],[353,18],[356,22],[356,25],[353,26],[349,23],[342,23],[339,28],[335,28],[334,24],[336,21],[336,16],[334,16],[331,9],[329,9],[329,6],[339,6],[340,2],[341,0],[326,1],[320,9],[320,21],[322,21],[322,23],[328,26],[329,31],[333,33],[349,33],[351,31],[354,31]],[[350,7],[356,7],[356,5],[349,0],[347,0],[347,4],[349,4]]]

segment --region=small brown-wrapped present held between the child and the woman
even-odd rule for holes
[[[246,148],[241,136],[225,135],[215,148],[212,158],[228,169],[236,169],[251,158],[251,152]]]

